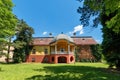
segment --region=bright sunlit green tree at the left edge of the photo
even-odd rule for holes
[[[3,54],[3,50],[9,45],[10,37],[15,34],[17,19],[12,13],[12,7],[12,0],[0,0],[0,54]]]

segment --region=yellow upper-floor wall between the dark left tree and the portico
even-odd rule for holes
[[[35,54],[33,54],[34,49],[35,49]],[[30,55],[45,55],[45,49],[47,49],[47,51],[48,51],[47,54],[50,54],[49,46],[34,46],[30,52]]]

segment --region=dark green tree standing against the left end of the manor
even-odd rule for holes
[[[29,54],[29,44],[32,41],[33,29],[25,21],[19,20],[17,25],[16,39],[14,40],[14,62],[24,62]]]

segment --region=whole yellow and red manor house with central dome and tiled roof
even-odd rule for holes
[[[91,36],[68,36],[59,34],[56,37],[33,38],[30,54],[26,62],[39,63],[74,63],[82,59],[93,60],[90,46],[97,42]]]

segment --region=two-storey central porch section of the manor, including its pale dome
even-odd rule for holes
[[[75,43],[64,34],[60,34],[50,43],[52,63],[73,63]]]

